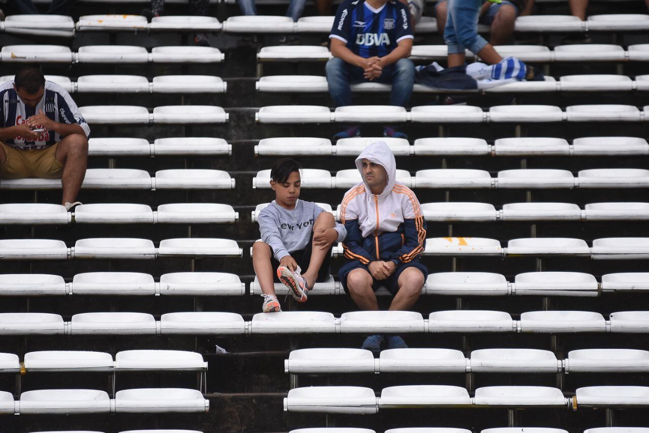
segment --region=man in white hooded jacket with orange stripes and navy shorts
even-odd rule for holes
[[[367,146],[356,158],[363,178],[345,193],[340,219],[347,229],[345,263],[338,278],[362,310],[378,310],[374,290],[384,286],[394,298],[390,310],[409,310],[419,299],[426,266],[426,221],[415,193],[397,181],[395,156],[384,141]],[[398,336],[367,337],[363,349],[374,353],[407,347]]]

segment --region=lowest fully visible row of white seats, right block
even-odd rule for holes
[[[644,408],[649,386],[586,386],[564,397],[549,386],[485,386],[475,396],[460,386],[406,385],[384,388],[380,397],[363,386],[310,386],[295,388],[284,399],[288,412],[376,414],[380,409],[430,407],[565,407]]]

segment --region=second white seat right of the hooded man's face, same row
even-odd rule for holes
[[[572,188],[574,176],[568,170],[515,169],[498,172],[498,188]]]

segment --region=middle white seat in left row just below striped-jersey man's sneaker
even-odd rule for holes
[[[153,211],[145,204],[82,204],[75,207],[79,224],[153,224]]]

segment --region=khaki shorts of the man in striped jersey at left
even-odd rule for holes
[[[0,143],[5,164],[0,165],[0,179],[60,179],[63,164],[56,160],[58,143],[43,149],[20,150]]]

